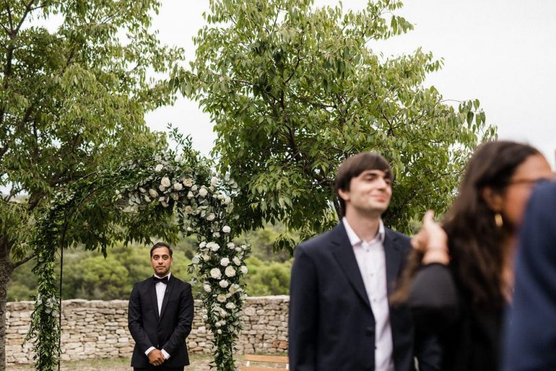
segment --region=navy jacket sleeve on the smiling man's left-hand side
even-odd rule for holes
[[[294,371],[316,370],[318,295],[316,267],[303,247],[297,247],[290,281],[288,356]]]

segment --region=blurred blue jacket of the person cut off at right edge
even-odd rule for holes
[[[556,183],[538,186],[520,234],[504,370],[556,370]]]

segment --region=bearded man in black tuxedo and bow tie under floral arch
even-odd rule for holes
[[[135,340],[134,370],[182,370],[189,365],[185,338],[193,322],[191,285],[170,273],[172,248],[157,243],[150,249],[154,276],[131,291],[128,326]]]

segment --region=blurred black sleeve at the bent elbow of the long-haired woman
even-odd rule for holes
[[[454,278],[445,265],[433,263],[417,271],[408,295],[417,328],[441,330],[459,315],[459,299]]]

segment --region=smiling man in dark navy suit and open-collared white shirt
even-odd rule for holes
[[[295,250],[290,286],[292,371],[439,370],[439,347],[417,334],[389,295],[410,251],[408,236],[384,227],[393,175],[376,153],[347,159],[336,175],[344,217]]]

